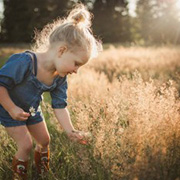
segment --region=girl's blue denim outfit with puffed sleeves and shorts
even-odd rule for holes
[[[40,102],[45,91],[50,92],[52,108],[67,106],[67,77],[56,76],[52,85],[47,86],[36,78],[36,74],[37,58],[30,51],[12,55],[0,69],[0,86],[8,90],[12,101],[25,112],[29,112],[31,107],[35,109],[34,116],[31,115],[26,121],[17,121],[0,105],[0,124],[13,127],[41,122],[44,117]]]

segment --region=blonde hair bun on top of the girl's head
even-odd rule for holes
[[[77,26],[87,28],[91,26],[91,14],[83,4],[76,5],[70,12],[67,20]]]

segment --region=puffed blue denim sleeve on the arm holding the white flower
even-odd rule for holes
[[[25,53],[12,55],[0,69],[0,86],[10,90],[21,83],[28,73],[29,62]]]

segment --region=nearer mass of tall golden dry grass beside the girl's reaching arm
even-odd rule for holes
[[[84,73],[70,80],[70,107],[76,126],[92,132],[93,156],[112,179],[180,176],[180,102],[172,81],[157,86],[135,72],[109,83]]]

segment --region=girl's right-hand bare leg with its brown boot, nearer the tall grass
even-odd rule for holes
[[[49,142],[50,136],[44,121],[28,126],[29,132],[36,141],[34,160],[39,175],[49,170]]]

